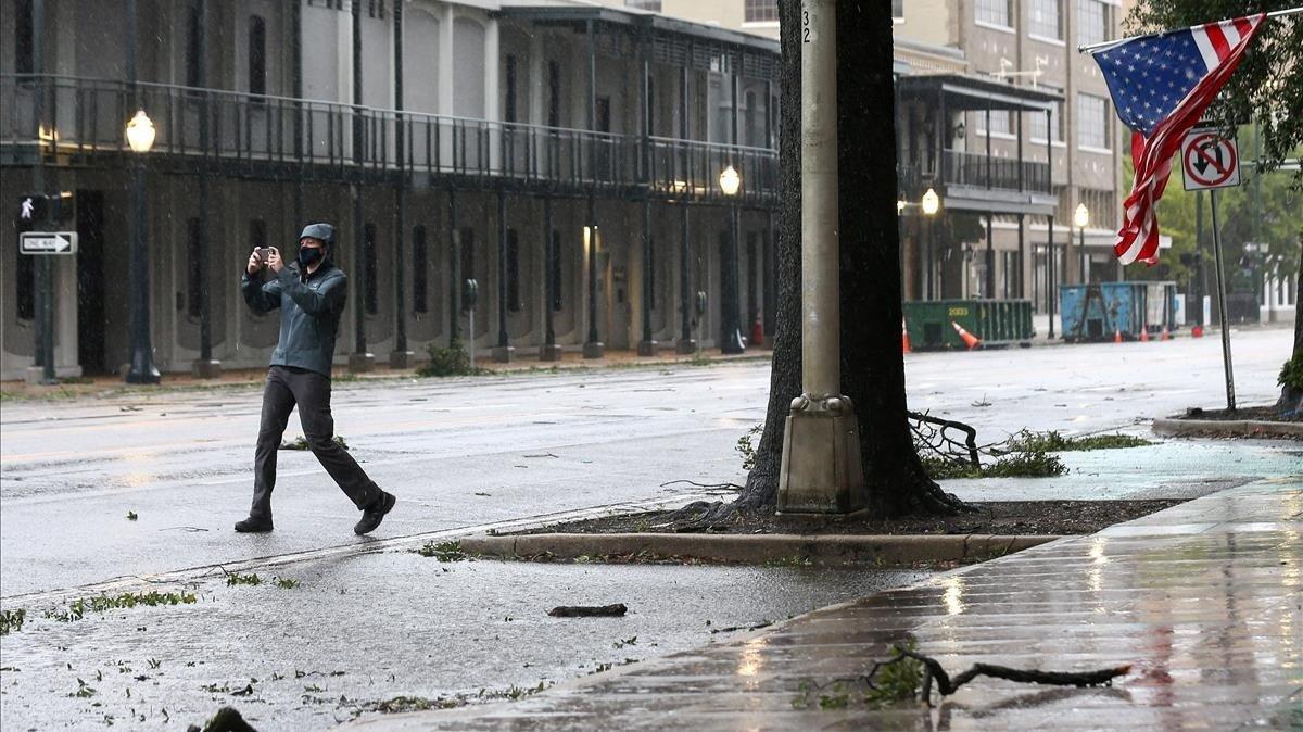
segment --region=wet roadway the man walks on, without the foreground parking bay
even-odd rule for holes
[[[1235,333],[1240,404],[1274,400],[1287,330]],[[909,404],[979,442],[1084,432],[1224,404],[1216,337],[907,358]],[[336,432],[399,496],[377,538],[469,528],[741,482],[734,445],[764,418],[764,363],[344,383]],[[7,402],[0,597],[365,546],[357,512],[308,452],[283,451],[276,531],[236,537],[251,494],[249,388]],[[287,439],[301,434],[291,418]],[[138,516],[128,521],[128,512]]]

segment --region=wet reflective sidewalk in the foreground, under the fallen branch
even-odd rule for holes
[[[980,677],[936,709],[794,709],[803,683],[864,673],[907,637],[954,675],[1131,664],[1111,688]],[[378,718],[414,729],[1299,729],[1303,477],[826,607],[732,642],[513,703]]]

